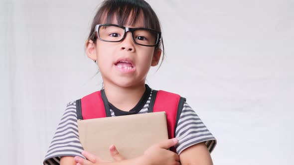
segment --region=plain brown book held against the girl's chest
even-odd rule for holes
[[[168,139],[165,112],[78,120],[78,129],[84,150],[105,161],[113,161],[109,152],[111,145],[126,159],[131,159]]]

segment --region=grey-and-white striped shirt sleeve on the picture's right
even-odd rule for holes
[[[178,144],[175,146],[177,154],[201,142],[205,142],[210,153],[216,146],[214,136],[186,102],[176,126],[175,137],[178,139]]]

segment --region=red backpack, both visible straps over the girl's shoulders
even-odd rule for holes
[[[163,90],[152,90],[148,113],[165,111],[169,139],[175,136],[176,124],[185,101],[186,99],[178,94]],[[76,107],[77,118],[81,120],[111,117],[104,90],[96,91],[76,100]],[[170,150],[176,152],[174,147]]]

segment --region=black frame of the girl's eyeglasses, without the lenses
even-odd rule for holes
[[[120,39],[119,41],[108,41],[108,40],[104,40],[104,39],[101,39],[100,38],[100,35],[99,35],[99,29],[100,29],[101,26],[116,26],[116,27],[120,27],[120,28],[123,28],[125,30],[125,34],[124,34],[123,38]],[[144,45],[144,44],[140,44],[140,43],[136,42],[135,39],[134,39],[134,31],[135,30],[149,30],[149,31],[155,32],[157,34],[157,39],[156,39],[155,45]],[[131,28],[131,27],[125,27],[125,26],[120,26],[120,25],[116,25],[116,24],[109,24],[109,23],[107,23],[107,24],[98,24],[98,25],[96,25],[95,26],[95,31],[97,32],[98,39],[101,40],[101,41],[105,41],[105,42],[121,42],[121,41],[123,41],[126,38],[126,34],[129,31],[132,33],[132,39],[133,39],[133,41],[135,42],[135,44],[138,44],[138,45],[153,47],[153,46],[158,46],[159,43],[160,43],[160,41],[161,41],[161,32],[160,31],[156,31],[154,29],[144,28],[144,27]]]

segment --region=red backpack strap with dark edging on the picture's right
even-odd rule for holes
[[[175,137],[175,129],[186,99],[178,94],[163,90],[152,90],[148,112],[165,111],[168,139]],[[172,147],[171,151],[176,152]]]

